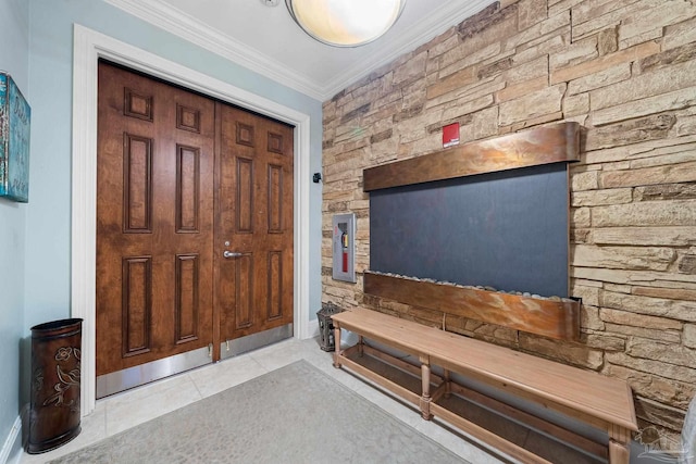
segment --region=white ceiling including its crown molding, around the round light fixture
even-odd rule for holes
[[[204,49],[325,101],[494,0],[407,0],[395,26],[358,48],[306,35],[284,0],[104,0]]]

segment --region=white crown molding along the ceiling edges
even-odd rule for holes
[[[103,0],[107,3],[150,23],[170,34],[183,38],[210,52],[221,55],[278,84],[297,90],[319,101],[333,98],[343,89],[360,80],[385,63],[427,42],[448,28],[461,23],[490,3],[490,0],[449,2],[419,21],[409,34],[401,34],[360,60],[359,64],[339,73],[335,79],[320,84],[278,62],[259,50],[222,34],[199,20],[172,8],[162,0]],[[418,0],[411,0],[418,1]],[[289,17],[289,16],[288,16]]]

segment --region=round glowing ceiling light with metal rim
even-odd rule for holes
[[[381,37],[399,18],[406,0],[285,0],[295,22],[334,47],[358,47]]]

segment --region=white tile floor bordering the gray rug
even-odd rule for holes
[[[288,339],[99,400],[95,412],[83,417],[83,429],[77,438],[48,453],[24,453],[20,463],[45,463],[301,359],[464,460],[475,464],[502,462],[446,427],[423,421],[414,407],[406,406],[351,374],[334,368],[331,353],[322,351],[318,340]]]

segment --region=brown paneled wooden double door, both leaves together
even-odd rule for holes
[[[293,323],[293,127],[99,63],[97,376]]]

